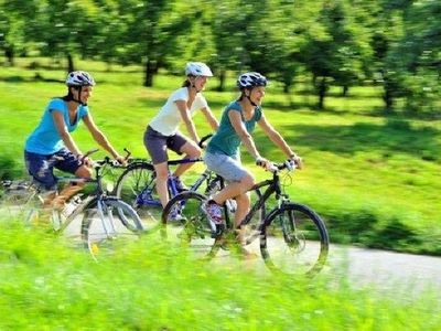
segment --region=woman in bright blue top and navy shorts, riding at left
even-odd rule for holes
[[[87,100],[92,95],[94,78],[86,72],[72,72],[66,78],[67,95],[53,98],[44,110],[39,126],[28,137],[24,161],[29,173],[42,190],[46,191],[45,205],[62,209],[65,201],[82,189],[79,184],[64,188],[55,196],[56,177],[54,168],[90,178],[90,160],[84,158],[71,132],[83,120],[94,140],[120,163],[125,159],[115,150],[106,136],[97,128],[89,113]]]

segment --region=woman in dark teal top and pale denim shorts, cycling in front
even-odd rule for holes
[[[238,100],[230,103],[224,110],[220,125],[207,145],[205,163],[212,171],[222,175],[228,184],[214,194],[204,205],[209,221],[214,224],[223,220],[222,205],[227,199],[235,199],[237,210],[236,226],[248,213],[250,200],[247,191],[255,184],[252,174],[240,163],[239,147],[244,143],[256,160],[256,164],[268,169],[271,163],[262,158],[256,148],[251,134],[256,124],[283,153],[301,168],[302,159],[287,145],[280,134],[268,122],[261,109],[267,78],[259,73],[245,73],[237,79],[241,94]],[[240,236],[239,236],[240,241]]]

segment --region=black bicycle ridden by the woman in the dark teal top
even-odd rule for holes
[[[294,168],[289,161],[275,164],[271,169],[272,179],[265,180],[251,189],[259,192],[256,194],[259,197],[251,203],[250,211],[239,225],[244,235],[241,244],[248,246],[259,238],[257,249],[260,248],[266,265],[272,271],[313,276],[326,261],[327,231],[324,222],[313,210],[290,201],[288,194],[282,191],[284,185],[279,174],[282,170],[292,171]],[[219,177],[218,179],[224,185],[223,179]],[[289,175],[283,178],[288,179]],[[260,194],[261,189],[265,189],[262,194]],[[267,213],[267,207],[272,204],[271,197],[276,199],[276,206]],[[230,221],[230,211],[227,206],[224,206],[225,223],[213,228],[203,207],[206,201],[207,196],[197,192],[180,193],[165,206],[162,223],[168,238],[175,238],[204,258],[212,258],[220,248],[228,247],[226,243],[234,241],[237,231]],[[173,209],[181,209],[185,217],[185,225],[178,229],[168,226],[168,215]],[[244,231],[256,222],[254,221],[256,217],[260,220],[257,226]]]

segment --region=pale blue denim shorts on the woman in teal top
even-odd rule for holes
[[[223,153],[205,152],[204,161],[207,168],[229,182],[239,182],[248,171],[240,160]]]

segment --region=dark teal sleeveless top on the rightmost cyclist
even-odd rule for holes
[[[261,118],[262,109],[260,106],[257,106],[252,118],[245,120],[240,104],[238,102],[233,102],[225,108],[220,118],[219,128],[209,140],[206,151],[209,153],[223,153],[235,158],[239,152],[241,140],[229,120],[229,111],[239,111],[247,131],[251,134],[256,127],[256,122]]]

